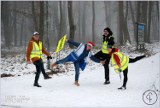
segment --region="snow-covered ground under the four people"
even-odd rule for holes
[[[153,49],[155,47],[152,47]],[[104,70],[101,64],[91,62],[80,74],[80,86],[73,85],[74,71],[54,74],[52,79],[39,79],[41,88],[33,87],[34,65],[15,63],[15,77],[1,78],[0,107],[152,107],[160,105],[160,46],[157,54],[129,64],[127,90],[119,91],[122,85],[119,75],[110,67],[111,84],[103,85]],[[130,54],[131,56],[138,54]],[[18,57],[19,58],[19,57]],[[17,59],[18,59],[17,58]],[[6,62],[6,60],[1,60]],[[20,65],[20,66],[19,66]],[[6,62],[7,66],[7,62]],[[5,65],[1,66],[4,71]],[[8,66],[10,67],[10,66]],[[13,68],[12,67],[12,68]],[[21,68],[20,68],[21,67]],[[22,69],[23,67],[23,69]],[[26,68],[25,68],[26,67]],[[5,67],[7,69],[7,67]],[[17,70],[17,71],[16,71]],[[30,74],[24,74],[31,71]],[[20,74],[21,76],[18,76]],[[143,102],[143,93],[154,90],[158,100],[153,105]],[[144,97],[145,98],[145,97]],[[152,98],[152,96],[150,97]],[[148,100],[149,101],[149,100]]]

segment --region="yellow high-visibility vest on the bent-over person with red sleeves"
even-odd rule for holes
[[[120,59],[120,63],[121,63],[121,70],[124,71],[127,67],[128,67],[128,63],[129,63],[129,58],[127,56],[125,56],[124,54],[120,53],[120,52],[115,52],[113,54],[116,54],[118,56],[118,58]],[[119,73],[118,69],[119,66],[117,65],[117,63],[115,62],[115,59],[113,57],[112,54],[112,65],[114,67],[114,70],[116,73]]]

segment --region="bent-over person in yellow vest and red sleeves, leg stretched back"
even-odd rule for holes
[[[123,72],[123,85],[119,87],[119,90],[126,90],[126,84],[127,84],[127,74],[128,74],[128,64],[134,63],[144,57],[145,55],[138,56],[136,58],[129,58],[118,51],[118,48],[108,48],[107,49],[112,60],[112,65],[114,67],[114,70],[117,74],[121,75],[121,72]]]

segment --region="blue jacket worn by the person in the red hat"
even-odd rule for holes
[[[81,68],[82,71],[83,71],[83,70],[85,69],[85,67],[86,67],[85,58],[86,58],[87,56],[89,56],[90,59],[93,60],[94,62],[100,63],[100,60],[97,59],[97,58],[95,58],[95,57],[90,53],[90,50],[89,50],[89,51],[86,50],[87,44],[81,44],[81,43],[73,42],[73,41],[70,41],[70,40],[68,40],[67,42],[68,42],[69,44],[72,44],[72,45],[76,46],[76,47],[80,47],[80,45],[84,45],[84,49],[83,49],[82,53],[81,53],[79,56],[75,53],[75,50],[72,51],[72,52],[68,55],[69,59],[70,59],[72,62],[74,62],[74,63],[78,62],[78,63],[80,64],[80,68]],[[77,50],[78,50],[78,49],[77,49]],[[90,54],[90,55],[89,55],[89,54]]]

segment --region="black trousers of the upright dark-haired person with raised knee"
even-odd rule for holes
[[[105,70],[105,79],[106,81],[109,81],[109,61],[111,59],[111,56],[109,54],[103,53],[102,51],[97,52],[94,56],[99,60],[106,60],[103,67]]]

